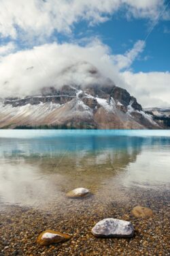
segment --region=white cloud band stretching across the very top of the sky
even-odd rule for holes
[[[155,20],[165,7],[164,0],[2,0],[0,34],[40,42],[54,31],[71,33],[73,25],[86,20],[88,25],[103,23],[118,10],[125,16]]]

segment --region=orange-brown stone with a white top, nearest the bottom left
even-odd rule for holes
[[[65,233],[48,229],[40,233],[40,235],[37,238],[37,244],[40,244],[40,245],[56,244],[58,242],[65,242],[70,238],[71,237]]]

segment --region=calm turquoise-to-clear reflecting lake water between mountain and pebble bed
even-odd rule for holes
[[[76,187],[100,201],[167,190],[170,130],[0,130],[0,203],[46,205]]]

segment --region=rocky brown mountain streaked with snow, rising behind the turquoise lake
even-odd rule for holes
[[[70,73],[70,68],[64,72]],[[101,77],[93,66],[88,74],[86,84],[43,87],[37,95],[1,98],[0,128],[163,128],[126,89]]]

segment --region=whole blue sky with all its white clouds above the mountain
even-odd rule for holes
[[[2,98],[108,77],[169,107],[170,0],[0,0],[0,74]]]

